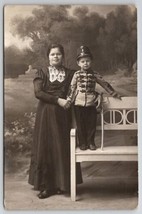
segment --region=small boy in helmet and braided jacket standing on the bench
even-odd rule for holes
[[[92,68],[93,56],[86,46],[81,46],[77,52],[77,64],[80,70],[74,73],[67,100],[69,107],[74,102],[75,118],[81,150],[96,150],[94,142],[97,121],[96,83],[101,85],[111,96],[121,99],[112,86],[103,80]]]

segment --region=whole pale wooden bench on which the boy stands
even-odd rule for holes
[[[76,162],[83,161],[138,161],[136,146],[105,147],[104,132],[107,130],[137,130],[137,97],[103,98],[103,108],[100,111],[101,145],[95,151],[82,151],[77,148],[76,128],[71,129],[71,200],[76,200]]]

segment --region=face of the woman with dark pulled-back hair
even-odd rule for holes
[[[63,55],[59,48],[52,48],[49,53],[49,63],[53,66],[59,66],[62,64]]]

